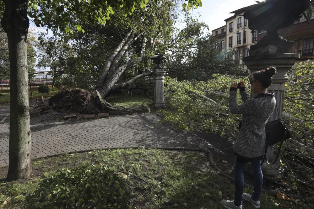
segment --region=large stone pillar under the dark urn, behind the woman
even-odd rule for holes
[[[276,103],[281,117],[284,102],[284,88],[288,81],[287,70],[290,69],[295,62],[300,58],[299,54],[293,53],[294,42],[292,41],[270,41],[268,43],[257,43],[251,46],[249,56],[245,57],[245,62],[251,73],[263,70],[269,66],[274,66],[277,69],[276,75],[273,77],[273,83],[268,88],[268,92],[275,94]],[[251,96],[254,96],[251,90]],[[270,116],[269,121],[279,119],[275,107],[274,112]],[[268,147],[267,159],[273,162],[276,158],[277,150]],[[266,174],[276,175],[280,167],[278,160],[274,165],[264,163],[262,169]]]

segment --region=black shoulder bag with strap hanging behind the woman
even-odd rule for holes
[[[276,104],[276,109],[277,109],[277,113],[279,116],[277,104]],[[284,124],[283,120],[280,118],[280,116],[279,116],[278,120],[274,120],[274,121],[266,123],[265,129],[266,129],[265,153],[264,153],[264,157],[263,157],[261,165],[263,165],[263,163],[266,159],[267,148],[269,146],[272,146],[274,144],[278,144],[280,142],[278,154],[277,154],[275,161],[273,163],[268,163],[268,161],[266,160],[268,165],[273,165],[277,161],[277,159],[279,158],[279,153],[281,150],[282,143],[284,142],[284,140],[290,138],[291,134],[290,134],[288,128],[286,127],[286,125]]]

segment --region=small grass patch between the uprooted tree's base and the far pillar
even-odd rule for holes
[[[143,95],[126,95],[125,93],[107,97],[106,101],[126,109],[141,107],[143,104],[153,102],[153,100]]]

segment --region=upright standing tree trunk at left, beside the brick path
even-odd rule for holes
[[[7,180],[31,173],[30,112],[28,104],[27,0],[5,0],[1,24],[8,35],[10,59],[10,141]]]

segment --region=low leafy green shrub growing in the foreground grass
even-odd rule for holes
[[[121,176],[102,165],[62,170],[26,197],[26,208],[133,208]]]

